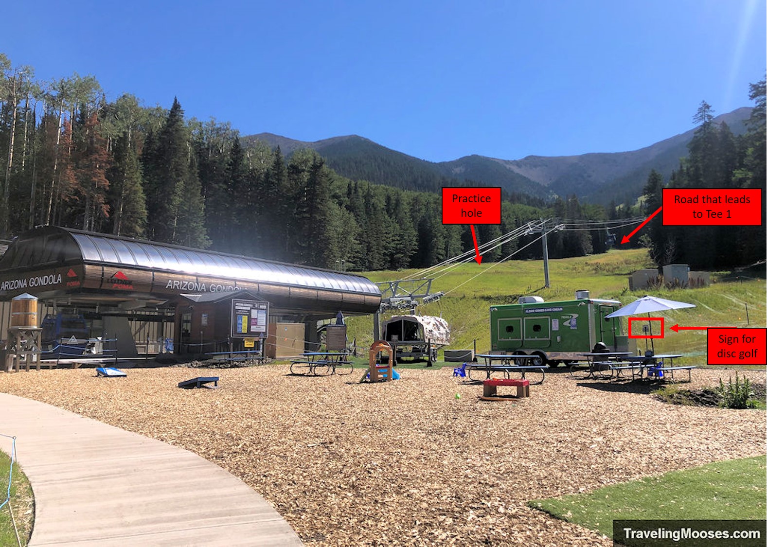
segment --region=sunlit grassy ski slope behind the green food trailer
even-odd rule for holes
[[[637,269],[650,268],[652,263],[645,249],[611,250],[603,255],[558,259],[549,262],[550,288],[542,288],[543,262],[509,261],[501,264],[464,264],[435,279],[433,292],[447,294],[438,302],[418,307],[419,315],[437,315],[446,318],[452,331],[450,348],[472,348],[476,339],[477,351],[490,348],[489,308],[495,304],[515,304],[521,295],[538,295],[546,301],[571,300],[576,290],[586,289],[592,298],[611,298],[623,304],[633,302],[645,294],[695,304],[696,308],[653,314],[665,318],[665,338],[655,340],[656,353],[682,353],[686,358],[680,364],[706,364],[706,331],[670,331],[681,326],[764,327],[767,315],[767,291],[764,279],[744,282],[713,282],[705,288],[659,289],[630,292],[628,276]],[[367,272],[374,282],[401,279],[416,273]],[[713,275],[713,280],[726,274]],[[746,321],[746,305],[749,325]],[[384,315],[407,313],[389,312]],[[382,319],[383,320],[383,319]],[[373,342],[371,316],[349,318],[348,336],[357,338],[360,348]],[[624,321],[624,328],[626,322]],[[641,342],[644,348],[644,342]]]

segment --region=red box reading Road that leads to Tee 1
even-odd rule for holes
[[[663,226],[760,224],[761,188],[663,188]]]

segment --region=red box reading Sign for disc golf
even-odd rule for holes
[[[709,364],[767,364],[767,328],[709,328]]]

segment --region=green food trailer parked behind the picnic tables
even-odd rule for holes
[[[544,302],[522,296],[518,304],[490,307],[490,351],[495,354],[538,355],[532,364],[556,366],[561,361],[582,361],[578,354],[604,342],[610,351],[630,351],[621,318],[607,319],[621,302],[589,298],[575,292],[574,300]]]

